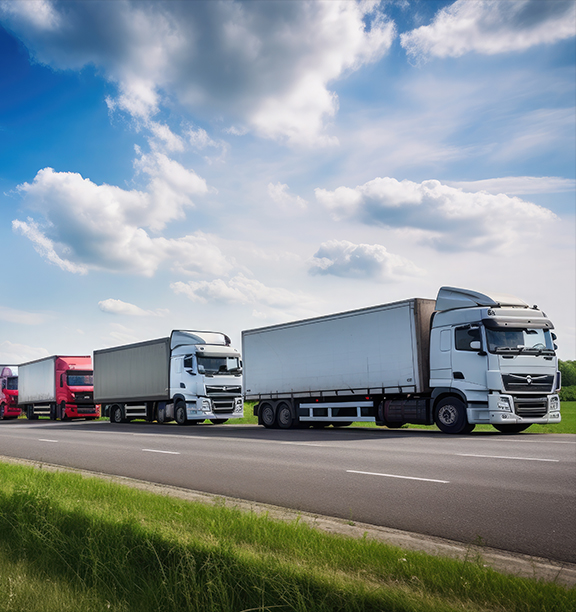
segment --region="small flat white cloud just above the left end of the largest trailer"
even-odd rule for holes
[[[228,281],[176,282],[170,285],[176,294],[183,294],[193,302],[226,302],[230,304],[258,304],[273,308],[287,308],[299,304],[302,296],[279,287],[267,287],[260,281],[238,274]]]

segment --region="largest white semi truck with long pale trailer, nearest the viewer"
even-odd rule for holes
[[[242,332],[245,399],[265,427],[375,421],[464,434],[559,423],[553,325],[512,296],[442,287]]]

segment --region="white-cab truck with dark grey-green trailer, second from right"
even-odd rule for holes
[[[240,352],[219,332],[174,330],[168,338],[94,351],[94,397],[112,423],[244,415]]]

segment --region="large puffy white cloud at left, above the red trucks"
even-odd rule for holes
[[[159,153],[143,155],[136,165],[150,176],[146,191],[96,185],[73,172],[40,170],[32,183],[18,189],[28,208],[45,221],[14,220],[14,231],[67,272],[98,269],[152,276],[161,263],[172,260],[175,269],[187,274],[226,273],[230,264],[208,235],[153,235],[184,218],[185,209],[194,205],[192,197],[207,191],[205,181]]]

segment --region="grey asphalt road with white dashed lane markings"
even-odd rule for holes
[[[576,435],[18,420],[0,455],[576,563]]]

